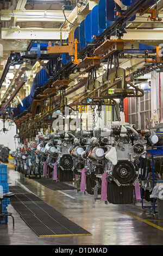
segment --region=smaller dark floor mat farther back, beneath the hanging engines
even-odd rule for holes
[[[54,181],[48,178],[41,178],[41,179],[34,179],[35,181],[39,182],[41,185],[50,188],[51,190],[76,190],[76,187],[71,185],[67,185],[61,181]]]

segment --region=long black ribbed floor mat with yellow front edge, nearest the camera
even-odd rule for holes
[[[10,198],[11,205],[38,236],[91,235],[35,194],[23,190],[20,186],[9,188],[10,192],[15,193],[15,196]]]

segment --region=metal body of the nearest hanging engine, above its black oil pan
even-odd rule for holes
[[[85,154],[96,175],[106,172],[109,182],[130,186],[138,181],[139,159],[146,153],[146,144],[133,127],[116,121],[94,131],[91,148]]]

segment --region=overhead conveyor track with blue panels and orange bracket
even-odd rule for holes
[[[91,12],[80,22],[79,26],[74,29],[72,27],[66,40],[57,43],[55,41],[48,43],[46,49],[48,57],[45,57],[45,59],[49,59],[49,62],[45,66],[42,65],[44,68],[42,72],[46,71],[45,74],[48,78],[46,82],[43,80],[38,81],[37,90],[35,90],[35,94],[33,93],[32,101],[30,101],[28,108],[26,108],[28,111],[30,111],[30,107],[32,106],[30,104],[32,104],[33,100],[38,99],[36,97],[37,94],[40,94],[39,90],[52,88],[53,81],[66,79],[76,70],[80,70],[80,74],[84,71],[89,72],[91,65],[100,67],[100,64],[95,63],[99,59],[101,63],[107,61],[108,57],[104,57],[104,52],[98,52],[99,48],[103,44],[106,44],[106,42],[109,42],[108,47],[113,48],[115,47],[114,41],[116,45],[122,44],[121,38],[126,34],[126,23],[134,21],[139,11],[147,11],[154,4],[154,0],[122,1],[121,3],[123,7],[120,6],[120,1],[111,0],[108,2],[107,0],[99,0],[98,4],[92,8]],[[112,41],[112,46],[110,45],[111,36],[115,37]],[[37,49],[37,56],[31,56],[33,63],[39,58],[41,49],[43,51],[45,50],[47,40],[44,41],[45,44],[43,44],[43,40],[35,40],[30,44],[29,47],[31,50]],[[155,50],[153,49],[153,51]],[[27,55],[30,58],[30,51]],[[99,58],[99,55],[102,55],[102,58]],[[23,58],[28,58],[28,56],[26,56],[26,52],[22,53]],[[87,62],[85,66],[82,66],[86,59],[92,60],[93,64],[90,61],[90,63]],[[81,71],[81,68],[83,71]],[[23,112],[19,112],[19,114],[21,113]]]

